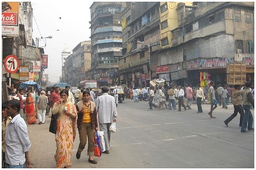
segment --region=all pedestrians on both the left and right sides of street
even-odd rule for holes
[[[241,132],[254,130],[253,115],[250,111],[251,108],[254,108],[254,88],[250,88],[253,87],[251,83],[247,82],[242,88],[240,85],[233,85],[231,88],[228,85],[214,87],[215,82],[211,81],[207,93],[200,84],[196,85],[196,88],[192,88],[190,83],[184,87],[171,85],[168,89],[163,86],[158,88],[125,88],[124,92],[126,99],[133,99],[134,102],[148,101],[150,110],[154,108],[186,111],[187,108],[192,109],[191,105],[196,103],[198,108],[196,113],[203,113],[201,105],[208,102],[210,104],[210,111],[208,112],[210,118],[216,118],[212,114],[218,104],[227,109],[227,103],[230,103],[227,101],[232,101],[234,112],[224,120],[224,124],[228,126],[228,123],[239,113]],[[79,87],[75,93],[75,96],[80,99],[77,103],[75,103],[75,97],[69,90],[69,86],[66,86],[62,91],[56,86],[52,87],[51,91],[44,91],[43,89],[39,89],[37,93],[27,91],[25,108],[23,108],[22,95],[25,91],[19,89],[16,93],[16,99],[2,103],[2,167],[23,168],[25,164],[28,168],[32,167],[28,153],[31,143],[26,122],[27,124],[35,124],[36,112],[38,112],[38,125],[44,124],[47,105],[50,106],[49,116],[58,115],[55,134],[57,149],[54,156],[56,167],[70,168],[77,129],[80,143],[76,158],[80,159],[81,152],[88,143],[88,161],[97,164],[97,161],[93,159],[93,143],[95,132],[98,130],[98,123],[99,129],[104,132],[105,150],[103,153],[110,153],[111,131],[109,127],[113,122],[116,122],[117,104],[114,96],[109,95],[109,88],[103,86],[101,95],[94,98],[94,92],[92,93],[91,89]],[[117,88],[114,89],[114,94],[115,90],[117,91]],[[176,108],[177,105],[178,108]],[[181,110],[181,106],[184,110]],[[26,113],[26,122],[23,119],[23,110]]]

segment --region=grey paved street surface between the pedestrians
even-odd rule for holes
[[[203,113],[196,113],[197,105],[182,112],[148,108],[148,102],[131,99],[118,105],[111,153],[94,157],[98,164],[88,162],[87,145],[76,159],[77,133],[71,168],[254,168],[254,131],[241,133],[239,116],[229,127],[223,122],[233,105],[216,108],[216,119],[207,114],[210,105],[202,105]],[[28,125],[33,168],[55,168],[56,144],[49,122],[47,116],[44,125]]]

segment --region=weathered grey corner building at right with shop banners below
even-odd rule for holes
[[[161,66],[169,66],[176,84],[195,86],[200,82],[207,87],[211,80],[216,84],[227,82],[227,63],[246,62],[247,77],[252,80],[253,11],[254,2],[178,3],[178,27],[170,32],[169,49],[160,53]]]

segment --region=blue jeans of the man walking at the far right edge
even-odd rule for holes
[[[243,108],[244,108],[244,119],[241,127],[241,132],[244,132],[246,130],[246,127],[248,130],[251,130],[253,128],[253,115],[250,111],[250,105],[243,105]]]

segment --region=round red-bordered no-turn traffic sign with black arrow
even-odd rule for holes
[[[19,61],[14,55],[9,55],[4,60],[4,67],[7,72],[15,73],[19,68]]]

